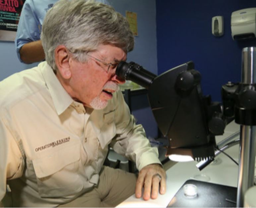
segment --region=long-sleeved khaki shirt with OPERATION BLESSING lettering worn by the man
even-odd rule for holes
[[[86,109],[42,62],[0,82],[0,97],[0,201],[6,179],[15,207],[73,200],[97,185],[109,146],[138,170],[160,163],[121,91],[103,110]]]

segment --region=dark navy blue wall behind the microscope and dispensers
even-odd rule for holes
[[[241,80],[241,51],[256,41],[234,41],[230,18],[236,10],[256,7],[255,0],[156,0],[159,74],[194,61],[203,93],[221,101],[221,86]],[[212,17],[224,16],[224,35],[212,35]]]

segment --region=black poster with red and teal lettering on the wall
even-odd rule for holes
[[[14,41],[26,0],[0,0],[0,41]]]

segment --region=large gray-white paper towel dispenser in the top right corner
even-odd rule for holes
[[[256,8],[232,12],[231,35],[233,40],[253,39],[256,37]]]

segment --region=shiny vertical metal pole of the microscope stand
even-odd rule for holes
[[[242,51],[242,83],[256,83],[256,47]],[[244,194],[254,183],[256,126],[241,125],[236,206],[243,207]]]

